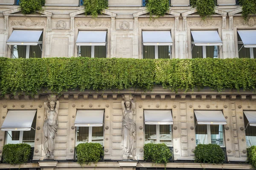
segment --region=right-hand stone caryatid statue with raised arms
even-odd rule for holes
[[[122,149],[124,155],[133,155],[136,135],[136,124],[133,120],[135,104],[128,98],[122,101]]]

